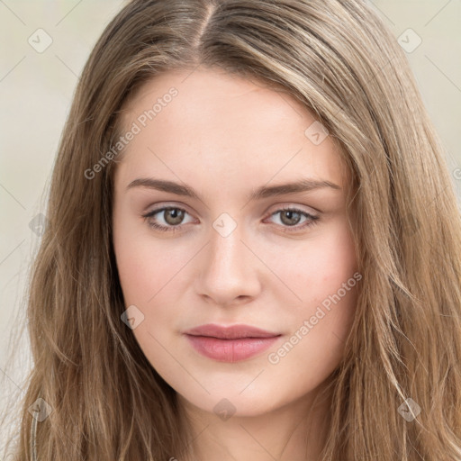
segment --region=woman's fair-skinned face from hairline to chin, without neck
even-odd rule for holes
[[[258,415],[312,393],[343,355],[360,278],[348,174],[293,98],[189,73],[149,81],[122,119],[126,328],[185,402]]]

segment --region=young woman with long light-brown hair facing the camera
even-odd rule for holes
[[[461,459],[443,157],[362,1],[126,5],[54,168],[17,459]]]

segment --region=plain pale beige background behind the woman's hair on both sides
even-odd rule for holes
[[[12,389],[22,389],[23,372],[31,366],[26,335],[20,356],[6,364],[8,335],[23,316],[28,269],[40,242],[30,223],[46,213],[44,193],[78,75],[124,3],[0,0],[0,405]],[[373,5],[407,52],[461,197],[461,169],[456,169],[461,168],[461,2],[375,0]]]

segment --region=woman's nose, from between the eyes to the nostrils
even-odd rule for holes
[[[195,279],[196,293],[221,306],[248,303],[260,291],[258,273],[262,266],[242,240],[239,226],[226,237],[212,229]]]

